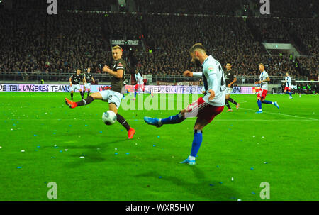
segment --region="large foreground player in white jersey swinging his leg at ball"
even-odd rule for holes
[[[207,55],[203,45],[196,43],[189,50],[191,62],[203,67],[203,72],[184,71],[186,77],[202,77],[206,94],[197,101],[181,110],[175,116],[167,118],[150,118],[144,117],[146,123],[160,127],[164,124],[181,123],[186,118],[197,117],[194,125],[194,139],[191,147],[191,154],[181,163],[195,165],[195,158],[201,147],[203,140],[203,128],[210,123],[215,116],[220,114],[225,106],[225,76],[220,63],[211,55]],[[212,131],[210,131],[212,132]]]

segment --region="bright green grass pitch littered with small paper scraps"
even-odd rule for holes
[[[255,114],[256,95],[232,95],[240,109],[231,104],[233,113],[225,108],[204,128],[195,166],[179,164],[194,118],[156,128],[143,116],[178,111],[121,108],[137,131],[128,140],[119,123],[101,121],[107,103],[69,109],[65,97],[0,93],[0,200],[50,200],[48,182],[57,200],[319,200],[317,95],[269,94],[280,109],[263,104],[264,114]],[[270,199],[259,197],[261,182]]]

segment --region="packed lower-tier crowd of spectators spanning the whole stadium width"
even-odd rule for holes
[[[142,1],[137,2],[142,4]],[[195,4],[193,0],[186,2]],[[198,5],[201,3],[207,2],[199,1]],[[92,72],[101,72],[101,65],[108,64],[111,59],[110,38],[139,40],[143,35],[146,53],[124,52],[125,60],[135,59],[134,69],[143,74],[199,72],[201,68],[191,65],[189,48],[200,42],[222,65],[230,62],[238,75],[259,75],[258,64],[263,62],[269,75],[284,76],[289,72],[291,76],[315,77],[318,76],[316,26],[318,20],[309,18],[285,18],[281,22],[277,18],[235,16],[67,11],[48,16],[46,11],[1,11],[0,72],[69,73],[77,67],[91,67]],[[261,43],[262,40],[291,40],[292,34],[313,57],[291,59],[268,55]]]

